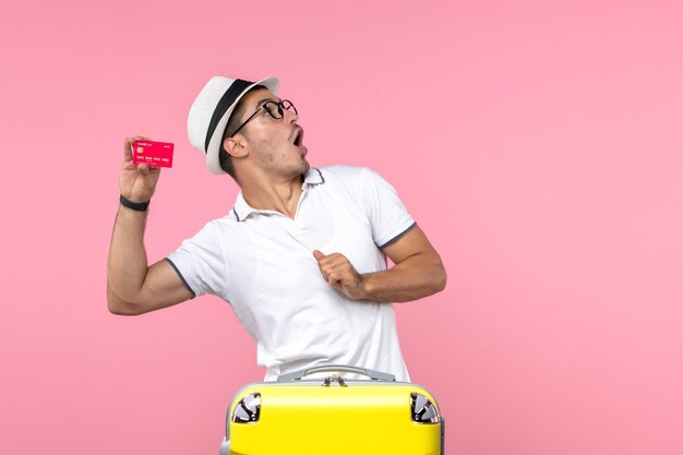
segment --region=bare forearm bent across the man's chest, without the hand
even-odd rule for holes
[[[439,255],[419,253],[394,267],[360,276],[364,300],[407,302],[442,291],[446,271]]]

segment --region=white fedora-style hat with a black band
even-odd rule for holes
[[[188,136],[194,148],[206,155],[206,167],[213,173],[220,169],[218,154],[228,119],[239,100],[256,85],[263,85],[277,95],[279,81],[266,77],[257,82],[213,76],[196,96],[188,115]]]

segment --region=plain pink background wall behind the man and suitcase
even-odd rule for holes
[[[313,165],[370,166],[442,253],[396,308],[450,454],[683,452],[680,1],[0,7],[0,453],[215,454],[257,381],[229,307],[107,312],[121,141],[176,143],[156,261],[237,187],[185,137],[213,74],[278,75]]]

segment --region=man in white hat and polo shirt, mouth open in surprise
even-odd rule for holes
[[[215,294],[256,342],[266,381],[325,363],[408,381],[390,302],[442,290],[441,259],[375,172],[309,166],[297,110],[277,92],[274,77],[215,76],[199,94],[190,142],[241,192],[228,215],[151,266],[143,235],[160,169],[133,165],[131,144],[143,137],[125,139],[109,310],[141,314]]]

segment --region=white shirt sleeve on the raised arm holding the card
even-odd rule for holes
[[[195,296],[220,295],[229,278],[221,252],[218,227],[209,223],[194,237],[184,240],[167,261]]]

